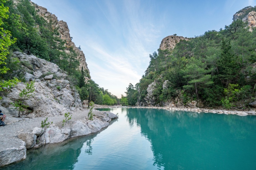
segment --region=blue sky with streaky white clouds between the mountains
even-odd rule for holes
[[[219,30],[256,0],[32,0],[66,21],[91,78],[120,97],[146,70],[161,40]]]

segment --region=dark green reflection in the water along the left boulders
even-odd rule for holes
[[[81,148],[86,145],[85,153],[93,154],[91,144],[98,133],[85,137],[66,140],[58,144],[46,145],[43,148],[28,150],[27,158],[20,163],[3,168],[13,169],[74,169],[74,164],[81,154]],[[49,164],[48,164],[49,163]],[[47,166],[45,166],[47,164]]]

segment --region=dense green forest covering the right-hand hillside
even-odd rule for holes
[[[184,104],[196,100],[205,107],[247,107],[255,101],[256,90],[256,29],[248,30],[247,23],[238,19],[219,31],[181,40],[173,50],[150,54],[145,74],[135,86],[129,84],[121,103],[146,104],[148,85],[155,82],[156,105],[181,92]]]

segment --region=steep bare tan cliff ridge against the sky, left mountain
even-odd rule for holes
[[[72,39],[69,34],[69,28],[67,22],[64,21],[58,21],[58,18],[47,11],[46,8],[39,6],[33,2],[31,2],[32,5],[35,6],[35,9],[37,11],[37,14],[41,17],[43,17],[47,22],[51,22],[53,27],[58,28],[58,32],[60,34],[60,38],[62,40],[66,41],[65,46],[66,47],[73,47],[73,50],[77,53],[77,60],[80,62],[80,69],[83,67],[84,70],[88,70],[88,73],[90,73],[87,63],[85,61],[85,55],[82,50],[78,49],[75,44],[72,42]],[[65,50],[66,53],[69,53],[69,50]],[[90,80],[90,78],[86,77],[86,80]]]

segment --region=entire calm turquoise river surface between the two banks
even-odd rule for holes
[[[4,169],[256,169],[256,116],[101,109],[103,131],[29,150]]]

